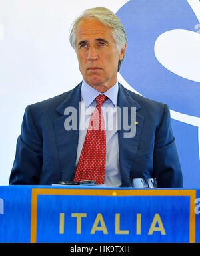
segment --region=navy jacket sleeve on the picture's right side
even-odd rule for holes
[[[181,188],[183,178],[171,128],[169,107],[165,105],[163,119],[155,134],[153,174],[160,188]]]

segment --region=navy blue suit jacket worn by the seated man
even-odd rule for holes
[[[79,120],[77,130],[65,130],[65,108],[77,109],[81,99],[81,84],[49,100],[27,106],[10,184],[52,184],[73,180]],[[159,187],[182,187],[182,172],[171,130],[171,118],[166,104],[139,96],[119,84],[119,107],[136,107],[136,135],[124,138],[119,130],[119,164],[122,186],[130,186],[133,178],[157,178]]]

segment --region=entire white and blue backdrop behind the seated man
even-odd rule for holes
[[[169,105],[185,188],[200,188],[199,0],[0,0],[0,185],[7,185],[25,107],[82,79],[70,26],[108,7],[127,32],[119,82]]]

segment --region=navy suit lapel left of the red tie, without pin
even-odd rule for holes
[[[75,87],[66,100],[57,108],[61,116],[54,121],[55,137],[59,162],[62,170],[62,180],[72,180],[75,172],[75,161],[77,157],[77,145],[79,140],[79,102],[81,101],[81,84]],[[66,108],[71,108],[73,114],[77,114],[77,130],[66,130],[65,120],[71,116],[66,115]]]

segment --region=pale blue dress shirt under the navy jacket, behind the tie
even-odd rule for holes
[[[118,82],[112,86],[109,90],[104,92],[108,99],[103,103],[102,110],[105,120],[106,130],[106,164],[105,164],[105,184],[110,187],[121,186],[121,175],[119,170],[119,145],[118,145],[118,133],[117,133],[117,113],[115,111],[107,113],[110,110],[114,110],[117,107],[117,95],[118,95]],[[80,123],[79,123],[79,142],[77,148],[76,168],[81,156],[81,150],[85,141],[87,133],[87,127],[89,125],[89,118],[95,109],[97,102],[95,98],[101,94],[95,90],[95,88],[89,86],[84,80],[81,86],[81,106],[80,109]],[[111,116],[112,114],[112,116]],[[108,118],[109,117],[109,118]]]

